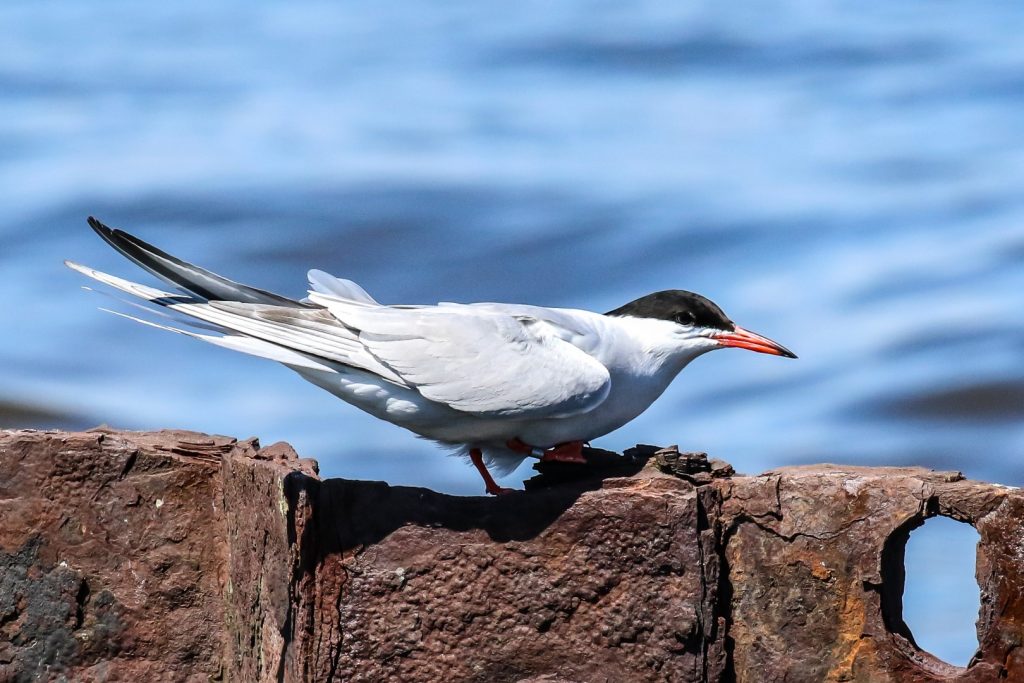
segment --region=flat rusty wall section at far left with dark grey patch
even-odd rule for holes
[[[221,671],[226,439],[176,438],[0,435],[0,680]]]

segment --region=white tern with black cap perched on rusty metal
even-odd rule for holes
[[[94,218],[89,225],[185,294],[69,267],[198,322],[185,319],[195,329],[184,330],[126,317],[276,360],[374,417],[457,449],[488,494],[509,489],[485,463],[508,472],[528,456],[585,462],[585,442],[639,416],[708,351],[797,357],[682,290],[604,314],[505,303],[394,306],[310,270],[309,296],[299,301],[221,278]]]

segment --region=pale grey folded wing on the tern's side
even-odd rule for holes
[[[487,416],[568,417],[608,395],[597,359],[529,315],[321,301],[364,347],[430,400]]]

